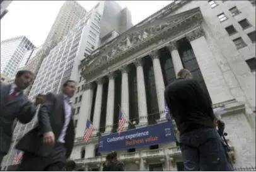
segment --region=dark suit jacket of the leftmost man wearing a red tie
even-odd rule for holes
[[[21,91],[9,101],[11,84],[1,84],[0,94],[0,152],[8,153],[13,136],[13,122],[18,119],[23,124],[30,122],[36,112],[35,105]]]

